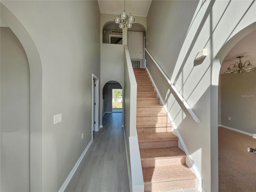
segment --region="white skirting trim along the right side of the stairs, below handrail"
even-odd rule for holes
[[[162,96],[160,95],[160,93],[158,91],[158,88],[156,87],[156,84],[155,84],[155,82],[154,82],[150,72],[148,71],[148,68],[146,68],[146,70],[147,70],[148,75],[149,75],[149,77],[150,77],[150,79],[151,79],[151,81],[152,81],[152,83],[153,83],[153,85],[154,85],[154,87],[156,89],[156,92],[157,92],[157,94],[158,94],[158,96],[160,98],[160,101],[162,102],[162,105],[164,106],[164,110],[166,111],[166,113],[168,115],[168,118],[170,119],[170,122],[172,123],[172,128],[175,129],[177,137],[179,138],[179,142],[182,145],[182,148],[183,148],[184,152],[186,153],[186,156],[188,157],[188,160],[189,160],[189,162],[190,162],[190,164],[192,166],[192,170],[196,174],[196,188],[198,189],[198,191],[203,192],[202,191],[203,190],[203,188],[202,188],[202,177],[201,177],[198,169],[196,168],[196,165],[194,164],[194,161],[193,161],[192,157],[190,156],[190,153],[188,152],[188,149],[186,148],[186,145],[185,145],[184,141],[182,140],[182,137],[180,136],[180,133],[179,133],[179,131],[177,129],[177,126],[175,125],[175,123],[174,123],[174,121],[172,119],[172,116],[170,115],[170,113],[169,113],[169,111],[168,111],[168,109],[166,107],[166,104],[165,104]]]

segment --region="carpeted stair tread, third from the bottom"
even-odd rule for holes
[[[173,133],[149,133],[138,134],[139,142],[152,142],[152,141],[173,141],[179,138]]]

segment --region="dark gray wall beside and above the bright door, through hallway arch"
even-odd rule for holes
[[[106,83],[104,85],[105,112],[112,112],[112,89],[122,89],[122,86],[119,83]]]

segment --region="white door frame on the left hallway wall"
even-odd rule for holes
[[[95,86],[94,86],[94,82],[95,82]],[[95,120],[95,124],[94,124],[94,120]],[[99,78],[96,75],[92,74],[92,132],[98,131],[98,130],[99,130]],[[92,134],[92,140],[93,140],[93,134]]]

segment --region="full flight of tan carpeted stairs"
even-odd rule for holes
[[[186,154],[160,105],[144,68],[134,68],[137,81],[137,134],[144,191],[194,188],[196,176],[186,166]]]

